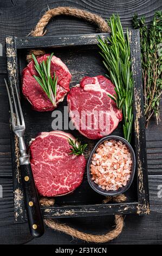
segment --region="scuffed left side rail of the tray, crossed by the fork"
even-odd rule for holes
[[[14,88],[15,83],[18,83],[18,69],[17,69],[17,50],[16,50],[16,40],[13,37],[6,38],[6,48],[8,57],[8,81],[10,81],[12,88]],[[9,84],[10,84],[9,83]],[[9,86],[11,101],[13,101],[11,88]],[[14,112],[15,116],[16,113]],[[11,116],[9,119],[10,124],[10,137],[11,137],[11,155],[12,155],[12,176],[13,176],[13,188],[14,188],[14,216],[15,222],[21,223],[25,222],[25,208],[23,200],[23,186],[21,181],[21,171],[19,162],[19,148],[18,148],[18,138],[12,131],[12,121]]]

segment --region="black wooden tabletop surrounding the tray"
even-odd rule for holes
[[[81,240],[46,228],[39,239],[32,240],[28,224],[14,224],[11,154],[9,137],[9,106],[4,78],[7,77],[4,38],[7,35],[25,36],[35,27],[48,8],[71,6],[92,11],[103,18],[118,13],[122,25],[131,28],[134,12],[146,15],[149,23],[156,10],[161,9],[161,0],[1,0],[0,1],[0,43],[3,56],[0,57],[0,185],[3,198],[0,198],[0,244],[82,244]],[[47,27],[48,35],[86,34],[99,32],[89,23],[72,17],[56,17]],[[161,103],[162,109],[162,103]],[[161,111],[162,112],[162,111]],[[162,119],[162,116],[161,116]],[[147,160],[150,187],[151,215],[126,216],[125,227],[112,244],[161,244],[162,243],[162,121],[157,126],[155,119],[146,130]],[[160,192],[161,190],[161,192]],[[159,193],[158,193],[159,192]],[[64,223],[93,234],[104,234],[111,230],[114,217],[62,219]]]

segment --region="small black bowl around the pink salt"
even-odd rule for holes
[[[131,153],[131,159],[132,159],[132,169],[131,169],[131,176],[129,178],[129,180],[127,181],[127,185],[123,186],[121,188],[119,188],[118,190],[112,191],[106,191],[103,190],[102,188],[99,187],[99,185],[95,184],[95,182],[92,180],[92,175],[90,174],[90,163],[92,161],[92,156],[95,153],[96,149],[99,147],[99,145],[101,145],[103,142],[105,141],[109,141],[110,139],[114,139],[115,141],[121,141],[122,143],[126,144],[127,148],[129,149],[129,152]],[[129,144],[126,139],[119,137],[119,136],[106,136],[102,139],[100,139],[100,141],[95,145],[94,149],[92,150],[92,153],[89,156],[88,159],[88,163],[87,163],[87,178],[88,178],[88,182],[89,185],[93,188],[94,191],[103,194],[104,196],[116,196],[118,194],[122,194],[124,193],[126,190],[128,190],[128,188],[131,186],[133,178],[134,178],[134,173],[135,173],[135,154],[134,154],[134,150],[131,146],[131,144]]]

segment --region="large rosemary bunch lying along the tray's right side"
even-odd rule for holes
[[[108,78],[114,83],[116,106],[123,114],[124,137],[131,141],[133,123],[133,79],[128,31],[126,37],[121,26],[120,17],[113,15],[108,21],[111,36],[105,40],[98,38],[103,64],[108,70]],[[109,96],[109,95],[108,95]]]

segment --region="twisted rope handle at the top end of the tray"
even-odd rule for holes
[[[56,17],[59,15],[68,15],[68,16],[73,16],[77,17],[92,23],[95,23],[98,25],[100,28],[100,31],[102,33],[110,32],[111,29],[107,25],[107,22],[102,19],[102,17],[92,14],[89,11],[81,10],[81,9],[76,9],[76,8],[71,8],[71,7],[57,7],[54,9],[50,9],[46,11],[46,13],[42,16],[40,21],[37,23],[34,31],[32,31],[30,34],[32,36],[43,36],[46,34],[47,30],[44,31],[46,28],[48,22],[51,20],[52,17]],[[41,56],[45,54],[43,50],[31,50],[29,54],[27,55],[27,60],[30,62],[32,60],[32,55],[34,54],[36,57]]]

